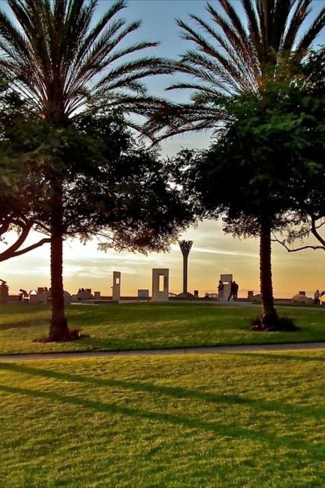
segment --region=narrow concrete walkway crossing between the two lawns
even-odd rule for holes
[[[0,356],[3,361],[47,360],[47,359],[84,359],[84,358],[121,358],[128,356],[167,356],[169,354],[219,354],[246,353],[266,351],[300,351],[325,350],[325,342],[290,342],[288,344],[259,344],[245,346],[213,346],[213,347],[179,347],[173,349],[142,349],[138,351],[95,351],[95,352],[67,352],[47,354],[12,354]]]

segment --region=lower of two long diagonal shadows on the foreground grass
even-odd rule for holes
[[[139,410],[137,408],[125,407],[112,403],[95,402],[80,397],[73,397],[68,395],[61,395],[54,392],[38,391],[30,388],[17,388],[13,386],[6,386],[0,384],[0,391],[3,393],[14,393],[17,395],[24,395],[27,397],[34,397],[37,399],[45,399],[50,402],[60,402],[62,404],[70,404],[78,408],[89,408],[97,412],[109,413],[112,415],[126,415],[134,417],[135,419],[144,419],[149,421],[156,421],[159,423],[169,423],[173,426],[180,426],[183,428],[191,428],[198,430],[205,430],[214,432],[221,437],[232,437],[234,439],[242,438],[249,441],[257,441],[267,443],[271,448],[285,447],[298,450],[306,450],[313,457],[313,459],[323,460],[324,452],[321,447],[303,439],[295,440],[291,437],[279,437],[276,432],[269,434],[268,432],[261,432],[252,429],[245,429],[238,425],[230,425],[224,423],[213,423],[203,421],[201,419],[189,419],[178,415],[171,415],[168,413],[150,412],[149,410]]]

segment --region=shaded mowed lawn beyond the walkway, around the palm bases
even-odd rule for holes
[[[325,310],[279,309],[291,316],[301,330],[293,333],[261,333],[248,330],[261,307],[229,307],[216,304],[71,305],[70,327],[81,327],[84,338],[68,343],[36,343],[49,330],[48,305],[0,306],[0,354],[49,351],[104,351],[239,345],[267,342],[325,340]]]

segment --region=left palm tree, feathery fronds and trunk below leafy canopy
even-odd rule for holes
[[[60,128],[91,107],[123,106],[144,113],[153,102],[141,82],[161,71],[159,58],[134,54],[157,43],[125,45],[141,22],[117,18],[125,0],[110,4],[93,23],[97,0],[8,0],[13,21],[0,11],[0,76],[25,101]],[[124,60],[125,56],[133,55]],[[51,161],[50,161],[51,164]],[[62,281],[64,175],[51,168],[51,296],[50,340],[67,340]]]

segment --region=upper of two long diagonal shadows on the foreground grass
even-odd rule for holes
[[[270,355],[269,355],[270,356]],[[291,358],[291,356],[289,356]],[[130,391],[141,391],[146,393],[156,393],[158,395],[169,395],[174,398],[188,398],[201,400],[203,402],[212,402],[215,404],[227,404],[248,406],[255,410],[265,410],[268,412],[278,412],[285,415],[300,416],[311,419],[324,419],[324,408],[310,408],[309,406],[285,404],[275,400],[252,399],[240,395],[217,395],[205,391],[189,390],[175,386],[160,386],[146,382],[130,382],[124,380],[108,380],[104,378],[95,378],[82,375],[73,375],[71,373],[62,373],[62,371],[49,371],[35,367],[15,364],[10,362],[0,362],[0,370],[14,371],[16,373],[25,373],[33,376],[48,377],[56,380],[67,382],[86,383],[96,386],[118,387]]]

